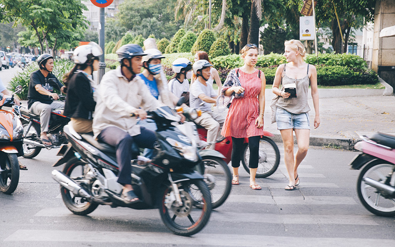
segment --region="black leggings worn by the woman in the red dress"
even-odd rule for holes
[[[248,146],[250,149],[250,160],[248,167],[250,168],[258,168],[260,138],[260,136],[248,137]],[[232,137],[232,167],[239,167],[241,159],[244,159],[243,144],[244,138]]]

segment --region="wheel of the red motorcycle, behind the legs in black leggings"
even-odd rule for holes
[[[256,177],[268,177],[275,173],[278,164],[280,164],[280,151],[276,143],[270,139],[269,137],[262,136],[259,140],[259,160],[258,160],[258,169],[256,171]],[[241,159],[241,163],[244,166],[244,169],[250,173],[250,169],[248,167],[250,159],[250,150],[248,143],[244,147],[243,158]]]

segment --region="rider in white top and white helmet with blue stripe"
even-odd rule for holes
[[[178,98],[184,96],[184,103],[189,106],[189,81],[192,78],[192,63],[187,58],[177,58],[172,64],[174,77],[167,87]]]

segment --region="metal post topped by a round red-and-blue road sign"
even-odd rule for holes
[[[99,20],[99,46],[102,48],[103,55],[100,57],[98,81],[100,83],[102,77],[106,73],[106,63],[104,61],[104,8],[113,3],[114,0],[90,0],[93,5],[100,8],[100,20]]]

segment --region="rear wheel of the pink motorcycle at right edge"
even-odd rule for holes
[[[366,184],[363,179],[371,178],[380,183],[385,183],[387,176],[393,174],[394,164],[387,161],[376,160],[366,165],[359,174],[356,190],[362,205],[370,212],[385,217],[395,216],[395,198],[387,193]]]

